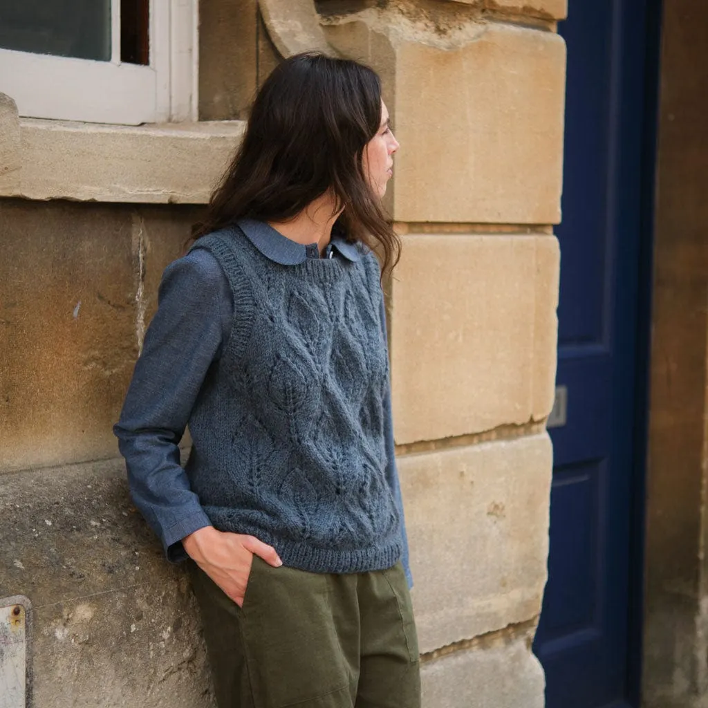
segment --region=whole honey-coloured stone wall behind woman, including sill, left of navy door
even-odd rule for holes
[[[387,206],[404,255],[387,290],[425,705],[539,708],[530,643],[548,544],[566,3],[260,7],[202,4],[202,119],[244,118],[278,50],[326,45],[379,71],[401,142]],[[183,571],[130,504],[110,424],[161,271],[234,138],[227,124],[118,130],[144,158],[122,189],[130,161],[114,166],[110,148],[91,161],[96,144],[74,149],[80,127],[38,174],[28,150],[46,122],[10,113],[0,110],[13,128],[0,156],[15,165],[0,169],[0,596],[33,603],[35,705],[206,708]],[[70,186],[57,193],[62,169]],[[74,201],[26,198],[57,196]]]

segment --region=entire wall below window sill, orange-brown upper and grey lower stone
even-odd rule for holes
[[[197,215],[0,200],[0,598],[33,605],[37,708],[211,704],[185,574],[132,507],[110,429]]]

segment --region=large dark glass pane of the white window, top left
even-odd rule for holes
[[[0,47],[110,60],[110,0],[0,0]]]

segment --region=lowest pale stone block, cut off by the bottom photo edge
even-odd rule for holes
[[[530,639],[498,641],[424,663],[423,708],[543,708],[543,669]]]

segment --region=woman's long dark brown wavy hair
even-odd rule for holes
[[[281,62],[251,108],[246,134],[193,239],[244,217],[287,221],[332,190],[336,226],[377,251],[388,273],[401,244],[367,182],[362,157],[381,123],[373,69],[317,52]]]

